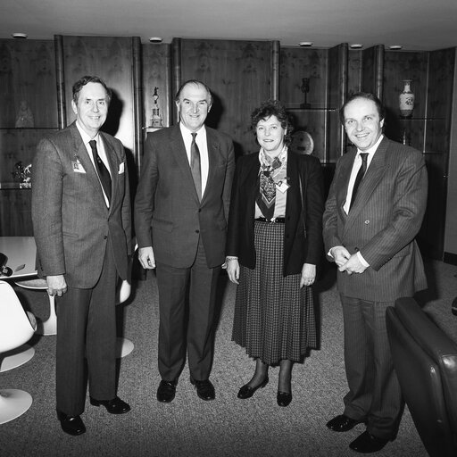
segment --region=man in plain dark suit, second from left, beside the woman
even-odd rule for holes
[[[210,89],[185,82],[175,99],[179,125],[149,135],[135,200],[139,261],[157,266],[160,402],[171,402],[186,361],[203,400],[210,381],[214,298],[225,260],[228,204],[234,172],[231,139],[204,126]],[[188,291],[188,316],[186,293]]]

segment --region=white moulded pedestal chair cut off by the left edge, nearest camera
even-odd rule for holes
[[[33,314],[28,317],[13,288],[0,281],[0,354],[24,345],[35,329]],[[23,390],[0,389],[0,424],[21,416],[32,402],[31,395]]]

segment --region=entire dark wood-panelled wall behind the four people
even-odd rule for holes
[[[450,149],[451,120],[456,115],[452,108],[457,103],[452,98],[454,48],[385,52],[384,46],[373,46],[349,51],[347,44],[306,49],[281,48],[277,41],[181,38],[171,45],[141,46],[137,37],[56,36],[54,42],[0,40],[0,62],[0,182],[11,180],[14,163],[31,162],[46,129],[74,119],[71,87],[85,74],[102,77],[114,90],[105,129],[131,153],[133,187],[145,128],[151,124],[154,87],[159,89],[162,124],[167,127],[177,121],[173,98],[179,84],[202,79],[214,95],[208,124],[234,139],[237,154],[257,151],[250,114],[263,100],[278,97],[295,116],[296,128],[312,134],[321,162],[330,165],[345,152],[338,119],[345,97],[358,90],[374,92],[387,108],[387,136],[403,141],[407,130],[404,140],[426,155],[431,191],[422,235],[434,241],[433,256],[443,253],[446,173],[450,151],[457,154],[454,146]],[[306,110],[300,106],[303,78],[310,79]],[[403,79],[412,79],[416,96],[410,120],[399,116]],[[15,129],[22,100],[33,113],[33,129]],[[31,235],[29,195],[29,190],[0,190],[0,235]]]

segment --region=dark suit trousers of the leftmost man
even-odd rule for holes
[[[96,286],[68,287],[57,299],[57,410],[69,416],[84,411],[87,378],[92,397],[111,400],[116,396],[116,280],[108,242]]]

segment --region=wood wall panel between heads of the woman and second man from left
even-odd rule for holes
[[[269,41],[181,40],[179,80],[200,79],[211,88],[207,124],[228,133],[237,154],[258,149],[250,115],[271,96],[271,46]]]

